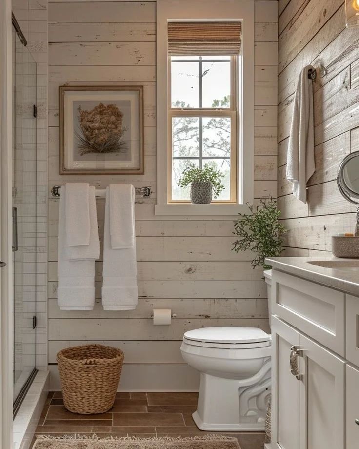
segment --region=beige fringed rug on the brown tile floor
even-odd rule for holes
[[[236,438],[205,435],[192,438],[99,438],[96,435],[38,436],[33,449],[240,449]]]

